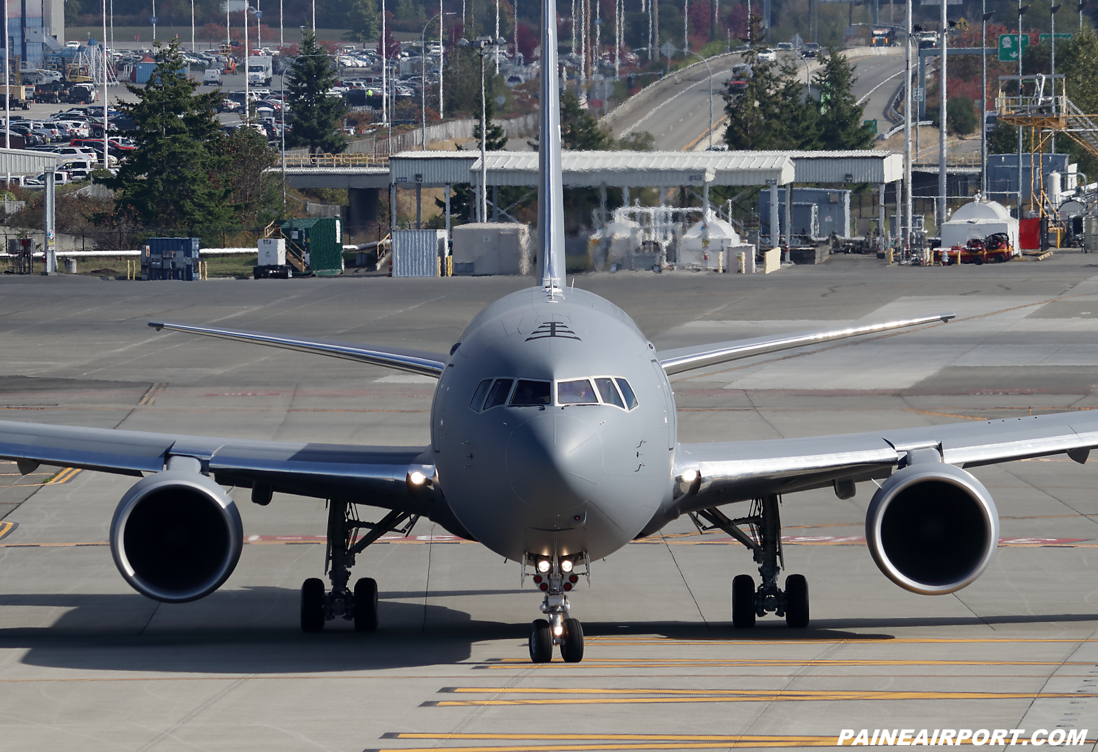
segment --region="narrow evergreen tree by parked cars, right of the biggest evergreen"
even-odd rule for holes
[[[327,93],[335,85],[332,58],[316,44],[316,34],[305,30],[285,87],[292,127],[285,134],[288,147],[307,146],[310,154],[339,154],[347,148],[347,138],[338,131],[343,99]]]

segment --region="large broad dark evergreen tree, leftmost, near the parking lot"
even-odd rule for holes
[[[104,180],[115,191],[120,217],[147,228],[224,227],[232,218],[231,189],[222,170],[222,133],[216,116],[221,92],[195,94],[179,43],[156,43],[156,68],[144,87],[126,85],[136,102],[116,106],[137,124],[136,148],[119,173]]]

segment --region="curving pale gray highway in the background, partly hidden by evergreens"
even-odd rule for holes
[[[878,52],[884,54],[848,54],[858,68],[854,93],[859,99],[869,97],[865,119],[878,119],[877,127],[883,133],[889,126],[884,111],[903,81],[904,55],[898,47]],[[709,61],[713,69],[713,116],[717,123],[713,139],[715,144],[722,142],[724,134],[719,123],[725,111],[721,83],[731,67],[741,61],[739,55],[725,55]],[[805,63],[808,64],[809,75],[815,74],[819,67],[813,60],[798,63],[802,78],[805,76]],[[661,151],[705,149],[709,145],[709,139],[706,138],[709,130],[708,78],[705,66],[695,65],[670,86],[662,85],[658,89],[638,93],[637,97],[643,99],[629,104],[628,114],[614,116],[612,113],[607,124],[618,137],[648,131],[656,137],[656,148]]]

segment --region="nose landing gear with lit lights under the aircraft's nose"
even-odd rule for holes
[[[585,573],[574,571],[575,562],[580,559],[586,563]],[[535,619],[530,625],[530,661],[549,663],[553,647],[560,646],[560,656],[565,663],[579,663],[583,660],[583,626],[579,619],[568,616],[572,607],[565,594],[580,581],[580,574],[586,574],[590,582],[591,563],[585,555],[527,557],[527,562],[523,564],[524,580],[527,564],[534,565],[534,584],[546,594],[541,602],[541,613],[549,617]]]

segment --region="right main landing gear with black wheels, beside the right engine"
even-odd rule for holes
[[[691,515],[698,530],[724,530],[751,549],[759,564],[762,584],[758,590],[750,574],[732,580],[732,626],[738,629],[754,627],[755,617],[768,613],[784,616],[785,622],[796,629],[808,626],[808,581],[802,574],[791,574],[785,579],[784,591],[777,586],[777,575],[785,565],[780,501],[776,494],[757,498],[750,515],[738,519],[729,519],[716,507]],[[699,518],[708,525],[703,525]],[[748,525],[750,535],[740,525]]]

